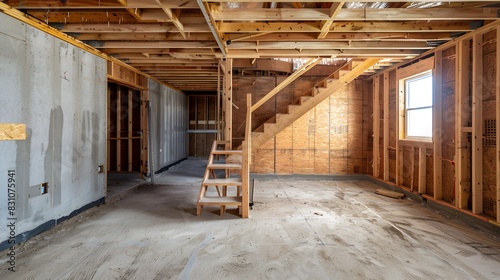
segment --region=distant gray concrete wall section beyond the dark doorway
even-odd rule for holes
[[[149,80],[154,171],[187,157],[187,97]]]

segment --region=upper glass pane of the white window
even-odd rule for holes
[[[406,81],[407,108],[432,106],[432,75]]]

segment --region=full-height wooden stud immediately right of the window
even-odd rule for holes
[[[442,67],[442,51],[437,51],[434,54],[435,66],[433,75],[433,106],[432,106],[432,140],[434,142],[434,199],[441,200],[443,198],[443,187],[442,187],[442,169],[443,169],[443,130],[442,130],[442,81],[443,81],[443,67]]]

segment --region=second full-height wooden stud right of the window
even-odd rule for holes
[[[470,146],[467,145],[469,127],[469,80],[470,80],[470,43],[461,40],[456,44],[455,67],[455,206],[468,208],[470,189]]]

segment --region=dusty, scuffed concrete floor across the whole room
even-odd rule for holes
[[[500,242],[365,181],[258,182],[250,219],[205,208],[188,160],[18,248],[0,279],[500,279]]]

